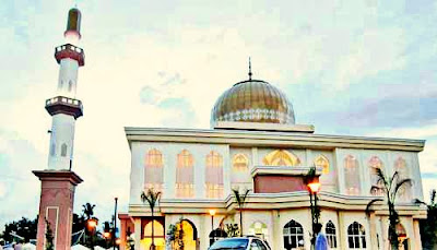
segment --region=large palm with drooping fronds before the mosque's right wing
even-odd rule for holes
[[[370,214],[370,206],[378,201],[386,201],[389,207],[389,241],[391,248],[397,250],[399,248],[399,236],[397,231],[397,225],[400,223],[399,214],[394,207],[398,191],[403,186],[412,184],[413,180],[410,178],[401,179],[398,171],[394,171],[391,178],[387,177],[380,168],[376,169],[378,181],[371,186],[371,193],[381,193],[386,195],[386,200],[377,198],[371,200],[366,207],[366,214]]]

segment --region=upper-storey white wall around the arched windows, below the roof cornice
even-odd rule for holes
[[[211,151],[215,151],[223,156],[223,178],[224,178],[224,198],[231,194],[233,183],[231,182],[232,160],[237,154],[244,154],[248,157],[249,166],[247,172],[247,183],[245,187],[253,189],[253,180],[250,171],[255,166],[262,166],[262,159],[270,152],[277,150],[274,147],[229,147],[226,144],[199,144],[199,143],[156,143],[156,142],[132,142],[132,166],[131,166],[131,204],[140,204],[140,193],[144,184],[144,159],[145,154],[156,148],[162,152],[164,158],[164,190],[163,199],[175,198],[176,165],[177,155],[182,150],[188,150],[194,158],[194,199],[205,199],[205,157]],[[422,181],[420,176],[418,157],[416,153],[401,151],[377,151],[377,150],[352,150],[335,148],[334,151],[320,150],[294,150],[286,148],[296,155],[300,164],[298,166],[314,166],[316,157],[322,155],[328,158],[330,170],[328,175],[321,175],[320,181],[322,190],[347,194],[345,191],[345,157],[352,155],[357,159],[359,172],[359,194],[370,195],[371,177],[369,160],[377,156],[383,165],[387,176],[394,171],[394,164],[399,157],[405,160],[409,177],[414,180],[411,198],[423,198]],[[234,187],[236,187],[234,184]]]

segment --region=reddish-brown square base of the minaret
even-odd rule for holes
[[[68,170],[35,170],[33,174],[42,181],[36,250],[46,247],[46,221],[52,230],[54,249],[70,250],[74,189],[83,180]]]

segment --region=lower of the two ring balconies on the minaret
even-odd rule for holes
[[[74,119],[83,116],[82,102],[66,96],[57,96],[46,100],[46,110],[51,115],[64,114]]]

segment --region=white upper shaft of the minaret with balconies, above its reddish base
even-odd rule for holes
[[[81,38],[81,12],[69,11],[64,37],[69,44],[55,49],[59,63],[57,96],[46,100],[46,109],[52,117],[48,169],[71,169],[74,142],[75,120],[83,115],[82,103],[75,99],[78,70],[84,66],[83,49],[73,45]]]

